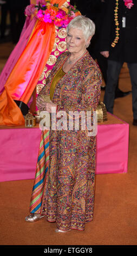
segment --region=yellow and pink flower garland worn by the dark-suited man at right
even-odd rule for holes
[[[125,5],[128,9],[131,9],[131,7],[134,5],[132,0],[123,0],[123,2],[125,2]],[[119,28],[119,20],[118,20],[118,9],[119,9],[119,0],[116,0],[115,10],[114,10],[114,16],[115,16],[114,21],[115,21],[115,26],[116,26],[116,29],[115,29],[116,36],[115,36],[114,41],[111,44],[112,47],[115,47],[115,45],[119,41],[119,30],[120,30],[120,28]]]

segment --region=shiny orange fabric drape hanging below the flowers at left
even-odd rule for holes
[[[59,4],[65,0],[53,1]],[[0,125],[24,125],[21,110],[14,100],[28,103],[55,41],[55,26],[37,21],[27,46],[19,57],[0,95]]]

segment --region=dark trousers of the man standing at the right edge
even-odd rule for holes
[[[123,62],[108,60],[107,84],[103,102],[107,111],[113,114],[113,106],[115,99],[115,89],[118,84],[120,71]],[[132,83],[132,109],[133,117],[137,119],[137,63],[127,63]]]

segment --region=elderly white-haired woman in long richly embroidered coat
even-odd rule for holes
[[[37,98],[38,109],[95,111],[100,99],[100,69],[87,47],[95,33],[93,21],[77,16],[67,27],[67,52],[62,53]],[[50,95],[45,103],[43,95]],[[96,137],[86,130],[50,130],[50,154],[41,215],[30,215],[34,222],[45,216],[56,222],[57,232],[84,230],[93,220]]]

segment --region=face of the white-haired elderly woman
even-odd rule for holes
[[[67,34],[67,49],[71,53],[79,53],[86,50],[86,39],[82,29],[70,28]]]

